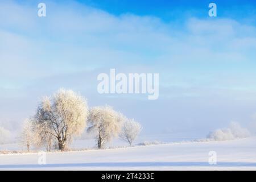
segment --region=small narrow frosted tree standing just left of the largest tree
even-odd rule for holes
[[[32,144],[34,143],[33,133],[33,120],[25,119],[22,125],[22,132],[20,133],[20,144],[27,147],[27,151],[30,151]]]

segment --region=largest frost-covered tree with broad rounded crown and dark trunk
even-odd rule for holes
[[[60,89],[38,105],[35,121],[39,133],[44,134],[43,139],[55,138],[59,150],[64,151],[68,142],[84,131],[87,115],[88,106],[84,97],[72,90]]]

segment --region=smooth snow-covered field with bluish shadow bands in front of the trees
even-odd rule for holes
[[[217,152],[216,165],[208,163],[209,151]],[[0,170],[256,170],[256,138],[51,152],[44,165],[38,158],[0,155]]]

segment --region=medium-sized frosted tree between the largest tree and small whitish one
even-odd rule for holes
[[[93,107],[89,111],[88,132],[96,132],[98,148],[104,147],[113,137],[119,134],[124,117],[110,106]]]

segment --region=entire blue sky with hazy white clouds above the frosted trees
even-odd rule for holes
[[[210,2],[217,17],[208,16]],[[0,124],[21,123],[64,87],[137,119],[144,133],[249,126],[255,15],[252,1],[1,1]],[[110,68],[159,73],[159,100],[98,94],[97,75]]]

